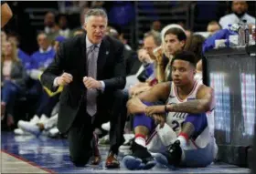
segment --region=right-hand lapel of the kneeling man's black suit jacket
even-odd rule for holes
[[[104,37],[101,42],[100,50],[99,50],[99,55],[98,55],[98,60],[97,60],[97,78],[100,79],[102,73],[103,73],[103,68],[106,63],[107,56],[110,53],[110,43]]]

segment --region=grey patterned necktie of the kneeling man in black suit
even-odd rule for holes
[[[94,79],[97,79],[97,51],[98,46],[92,45],[87,55],[88,77],[92,77]],[[91,117],[93,117],[97,112],[97,95],[97,89],[87,89],[87,113]]]

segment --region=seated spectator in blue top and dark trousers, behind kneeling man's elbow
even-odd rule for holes
[[[29,77],[33,79],[33,85],[27,91],[29,96],[37,96],[37,106],[35,115],[30,119],[30,123],[46,122],[51,117],[51,111],[59,102],[59,94],[50,97],[46,90],[43,89],[39,81],[43,70],[48,67],[55,56],[55,50],[50,46],[48,36],[45,33],[40,33],[37,36],[37,44],[39,50],[31,56],[31,62],[28,67]],[[24,126],[27,127],[27,124]],[[17,130],[18,129],[18,130]],[[17,128],[15,132],[23,134],[24,132]]]

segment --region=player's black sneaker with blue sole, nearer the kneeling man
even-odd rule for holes
[[[147,148],[134,141],[131,148],[133,154],[123,157],[123,164],[127,169],[152,169],[155,167],[155,159]]]

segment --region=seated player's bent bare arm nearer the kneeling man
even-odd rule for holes
[[[127,109],[130,114],[144,113],[146,105],[143,102],[155,102],[166,100],[170,92],[170,82],[157,84],[150,90],[145,91],[137,97],[132,97],[127,102]]]

